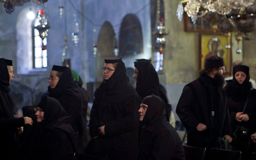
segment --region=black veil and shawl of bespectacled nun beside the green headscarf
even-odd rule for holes
[[[67,67],[61,74],[55,88],[52,89],[48,86],[48,91],[49,97],[53,97],[60,102],[67,112],[67,116],[70,116],[69,123],[82,136],[82,100],[79,91],[75,89],[70,68]]]

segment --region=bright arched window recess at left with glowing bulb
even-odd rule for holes
[[[36,20],[30,20],[27,17],[29,11],[33,11],[37,15],[39,8],[34,6],[25,7],[17,17],[16,22],[16,54],[17,54],[17,73],[18,74],[37,74],[42,71],[47,71],[47,51],[42,50],[42,40],[39,37],[38,30],[35,29]],[[36,16],[37,18],[37,16]],[[47,43],[45,39],[44,44]],[[40,51],[41,50],[41,57]],[[37,54],[39,52],[39,55]],[[41,60],[40,60],[40,58]],[[40,63],[37,61],[40,60]],[[46,63],[45,63],[46,62]],[[38,65],[40,64],[40,65]],[[42,67],[41,67],[42,66]]]

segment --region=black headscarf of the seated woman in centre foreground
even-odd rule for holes
[[[157,123],[166,121],[165,103],[160,97],[152,94],[145,97],[141,103],[148,105],[143,118],[146,130],[153,131]]]

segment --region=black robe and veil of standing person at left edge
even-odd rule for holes
[[[0,58],[0,159],[16,159],[19,147],[17,128],[23,126],[24,118],[14,118],[13,101],[10,97],[9,73],[5,60]]]

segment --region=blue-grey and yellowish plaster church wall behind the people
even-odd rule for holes
[[[6,13],[4,8],[0,7],[0,57],[13,60],[14,81],[30,88],[28,93],[34,91],[34,88],[37,93],[47,90],[48,82],[46,77],[49,75],[53,65],[62,65],[62,50],[65,44],[68,45],[66,58],[71,58],[71,68],[78,71],[84,81],[84,87],[87,87],[86,83],[96,82],[95,64],[97,57],[95,58],[93,55],[93,44],[95,43],[97,45],[100,29],[106,21],[112,25],[113,30],[118,35],[122,19],[127,14],[136,14],[137,12],[136,16],[140,21],[142,29],[143,53],[123,57],[126,67],[134,68],[133,62],[135,59],[151,58],[150,0],[93,0],[71,2],[91,22],[79,15],[71,4],[66,1],[68,41],[65,42],[65,23],[64,18],[59,17],[58,1],[48,0],[48,21],[51,25],[47,37],[48,67],[45,71],[30,72],[30,74],[17,73],[17,50],[22,49],[23,46],[18,46],[17,41],[19,39],[16,39],[17,17],[24,8],[29,8],[30,4],[15,7],[14,12],[11,14]],[[164,0],[165,26],[169,34],[166,36],[164,50],[164,74],[159,74],[159,80],[166,87],[168,99],[173,106],[173,111],[176,109],[178,99],[185,84],[196,79],[199,73],[199,33],[184,31],[184,21],[180,22],[176,17],[178,2],[178,0]],[[38,6],[38,8],[40,7],[43,8],[44,6]],[[141,8],[143,9],[140,11]],[[74,30],[74,13],[77,13],[80,30],[78,46],[74,46],[74,43],[71,41],[71,33]],[[252,39],[250,41],[241,41],[239,46],[235,40],[236,34],[232,34],[232,61],[243,60],[244,64],[251,68],[251,77],[256,79],[256,57],[254,56],[255,49],[252,47],[256,41],[253,38],[256,33],[255,31],[251,33],[250,37]],[[118,40],[119,36],[116,37]],[[235,51],[237,48],[242,49],[241,54],[236,54]],[[43,78],[45,78],[45,81],[42,80]],[[27,95],[27,97],[30,97],[30,95]]]

